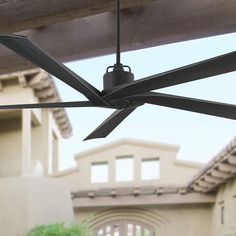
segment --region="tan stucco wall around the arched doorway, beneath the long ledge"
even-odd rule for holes
[[[150,225],[157,236],[210,236],[211,206],[112,208],[75,211],[77,222],[88,221],[92,229],[114,220],[134,220]]]

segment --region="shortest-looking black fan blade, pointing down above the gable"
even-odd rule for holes
[[[129,116],[137,106],[126,107],[122,110],[113,112],[101,125],[99,125],[85,139],[105,138],[110,134],[127,116]]]

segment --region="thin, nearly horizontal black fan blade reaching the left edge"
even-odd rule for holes
[[[11,109],[33,109],[33,108],[69,108],[69,107],[100,107],[89,101],[78,102],[55,102],[55,103],[34,103],[34,104],[16,104],[16,105],[0,105],[0,110]],[[104,106],[109,108],[109,106]]]

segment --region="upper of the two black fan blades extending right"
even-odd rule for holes
[[[149,76],[128,84],[121,85],[116,90],[103,98],[106,101],[127,96],[146,93],[151,90],[161,89],[207,77],[224,74],[236,70],[236,52],[224,54],[175,70]]]

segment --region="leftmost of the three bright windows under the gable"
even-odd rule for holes
[[[91,165],[91,183],[108,182],[108,163],[92,163]]]

